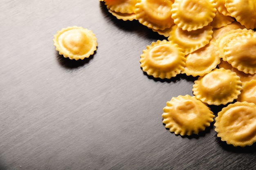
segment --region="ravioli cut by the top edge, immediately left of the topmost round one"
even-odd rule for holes
[[[136,18],[150,29],[164,30],[174,22],[171,18],[171,0],[137,0]]]

